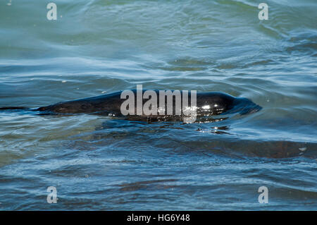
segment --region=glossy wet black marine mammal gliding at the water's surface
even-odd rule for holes
[[[147,90],[142,90],[142,95]],[[137,95],[137,90],[131,90]],[[154,90],[159,95],[159,90]],[[30,110],[39,111],[39,115],[73,115],[73,114],[99,114],[106,116],[125,117],[130,120],[151,120],[151,121],[170,121],[179,120],[183,116],[175,114],[176,98],[173,97],[173,114],[172,115],[123,115],[121,106],[125,99],[122,98],[123,92],[113,92],[108,95],[100,95],[97,97],[87,97],[84,99],[76,99],[67,102],[58,102],[46,107],[39,107],[37,109],[28,109],[24,107],[2,107],[0,110]],[[192,104],[192,93],[188,94],[188,105]],[[184,91],[180,91],[181,97]],[[142,103],[147,102],[147,99],[142,99]],[[159,99],[157,99],[159,105]],[[165,101],[165,109],[167,103]],[[135,103],[136,108],[136,103]],[[199,92],[196,97],[197,117],[215,116],[239,113],[241,115],[251,114],[262,109],[259,105],[252,102],[250,99],[244,97],[233,97],[223,92]]]

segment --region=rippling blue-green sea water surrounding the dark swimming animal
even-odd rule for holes
[[[1,210],[317,209],[315,0],[265,1],[268,20],[262,1],[53,2],[57,20],[49,1],[0,0],[0,107],[142,84],[263,109],[187,124],[0,111]]]

